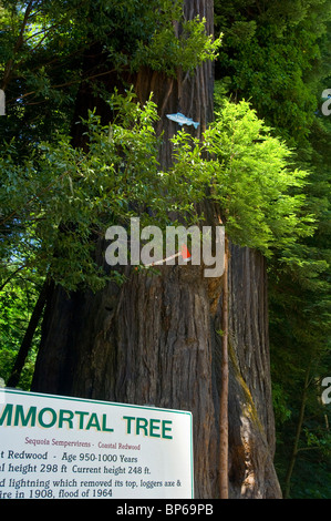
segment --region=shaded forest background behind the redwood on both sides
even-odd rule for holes
[[[308,236],[302,234],[293,244],[286,243],[268,257],[276,470],[286,497],[330,499],[331,405],[323,403],[321,396],[323,379],[331,377],[331,115],[328,98],[322,98],[331,89],[331,1],[216,0],[215,35],[221,34],[219,49],[206,42],[197,23],[189,28],[192,38],[187,38],[185,55],[172,47],[167,25],[179,3],[0,2],[0,88],[7,100],[7,115],[0,118],[0,377],[22,389],[31,385],[41,324],[40,316],[37,324],[33,319],[53,255],[50,245],[69,212],[69,202],[74,202],[70,203],[69,218],[79,223],[80,241],[74,245],[58,244],[54,274],[69,289],[79,284],[96,289],[102,284],[101,275],[90,265],[85,241],[91,224],[100,224],[86,215],[89,205],[91,214],[95,212],[93,201],[100,204],[97,187],[92,195],[89,193],[89,205],[84,207],[86,188],[75,177],[82,159],[70,147],[85,49],[102,40],[118,74],[144,64],[173,74],[174,63],[188,70],[190,62],[195,67],[203,61],[200,49],[209,54],[218,52],[216,112],[221,112],[227,101],[248,101],[271,129],[271,135],[292,150],[291,167],[309,172],[300,193],[306,196],[308,214],[313,215],[314,231]],[[156,23],[159,38],[147,45]],[[99,74],[103,73],[92,70],[84,81],[92,82],[99,94],[105,95],[102,84],[95,81]],[[125,103],[124,110],[132,110],[131,100]],[[146,118],[153,120],[152,106]],[[92,116],[91,129],[96,136],[100,122]],[[144,146],[155,146],[151,135],[144,140]],[[96,163],[101,150],[97,146],[103,144],[95,137]],[[49,168],[54,162],[55,173]],[[69,164],[74,165],[71,173]],[[92,166],[95,165],[90,164],[91,172]],[[102,171],[101,175],[106,177],[107,172]],[[92,175],[89,177],[93,186],[95,181]],[[148,178],[141,180],[143,184],[147,182]],[[146,188],[145,202],[152,191],[153,186]],[[110,211],[114,212],[112,205],[113,201]],[[117,198],[117,214],[124,206],[125,201]],[[157,208],[162,214],[161,202]],[[52,219],[48,219],[49,215]],[[61,256],[61,248],[68,255]],[[23,356],[22,370],[14,370],[22,346],[28,356]]]

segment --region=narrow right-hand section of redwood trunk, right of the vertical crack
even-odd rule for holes
[[[267,285],[263,257],[249,248],[232,247],[229,275],[231,498],[281,498],[272,463],[276,440]]]

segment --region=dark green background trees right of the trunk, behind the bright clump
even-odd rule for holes
[[[268,260],[276,466],[283,483],[307,368],[314,360],[304,395],[306,413],[291,497],[330,497],[330,456],[321,450],[321,443],[313,448],[309,443],[317,440],[316,436],[330,443],[325,433],[330,411],[320,406],[320,391],[313,382],[331,372],[331,127],[329,119],[319,111],[321,93],[330,86],[331,2],[216,0],[215,10],[217,31],[224,33],[216,64],[217,103],[225,94],[236,101],[249,99],[271,129],[271,135],[281,137],[292,149],[293,166],[309,172],[303,188],[304,208],[314,215],[314,234],[283,242]],[[296,187],[290,195],[299,195]],[[314,420],[309,421],[312,417]]]

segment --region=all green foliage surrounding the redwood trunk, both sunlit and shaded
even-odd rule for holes
[[[204,19],[183,19],[178,0],[0,2],[8,114],[0,118],[0,377],[10,372],[46,274],[68,290],[97,289],[106,276],[91,253],[107,226],[133,215],[164,225],[170,210],[196,219],[194,203],[208,186],[232,241],[268,256],[279,476],[313,359],[292,497],[330,498],[330,409],[314,384],[331,371],[331,127],[317,113],[330,88],[330,0],[215,0],[219,51]],[[86,68],[91,49],[99,60]],[[117,119],[105,126],[90,112],[90,150],[73,149],[82,82],[104,92],[96,80],[105,70],[120,79],[145,65],[174,76],[217,52],[215,124],[203,146],[175,135],[170,171],[157,162],[156,108],[137,105],[130,92],[106,93]]]

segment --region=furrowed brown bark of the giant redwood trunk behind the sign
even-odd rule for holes
[[[213,1],[185,2],[187,18],[205,16],[213,31]],[[167,113],[213,118],[213,67],[190,78],[141,71],[135,88],[151,91],[164,131],[162,167],[170,163],[168,137],[178,126]],[[206,206],[208,223],[217,215]],[[215,223],[214,223],[215,221]],[[96,256],[103,264],[106,244]],[[199,266],[163,266],[159,275],[125,267],[127,282],[96,295],[65,295],[56,287],[45,309],[33,389],[42,392],[190,410],[194,418],[196,498],[219,494],[219,389],[221,387],[223,277]],[[229,266],[229,490],[232,498],[278,498],[272,464],[266,267],[260,255],[231,248]]]

